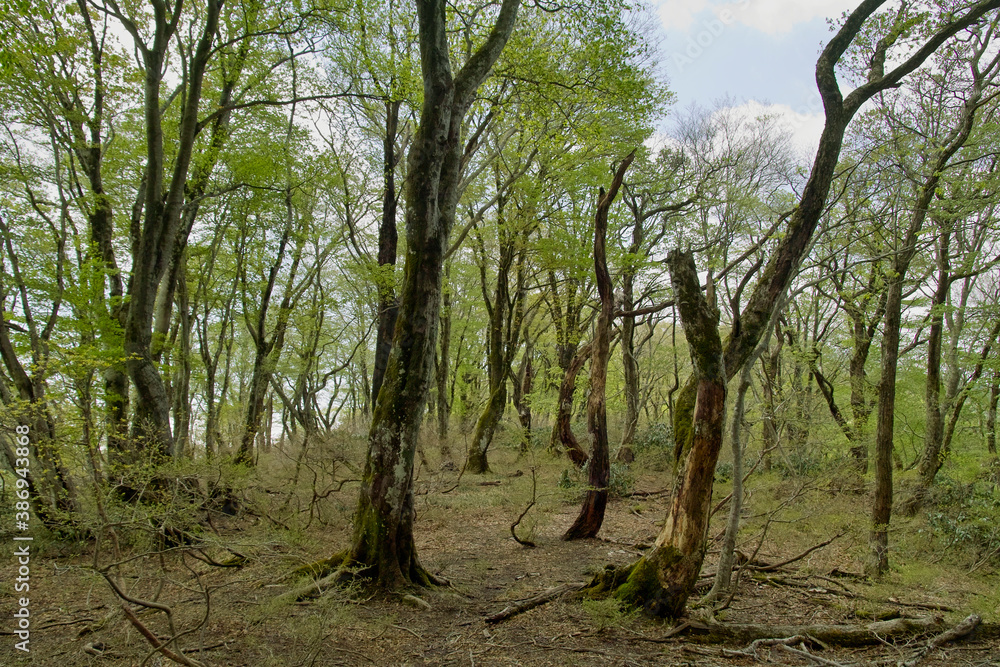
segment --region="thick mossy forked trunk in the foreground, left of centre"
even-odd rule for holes
[[[455,219],[461,129],[476,90],[514,29],[519,0],[504,0],[485,43],[453,76],[444,0],[417,0],[424,82],[420,123],[407,156],[407,254],[392,351],[372,415],[368,456],[343,565],[383,589],[433,582],[413,540],[413,460],[432,382],[441,274]]]

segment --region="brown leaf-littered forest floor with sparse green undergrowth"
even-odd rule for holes
[[[254,667],[896,665],[927,640],[924,636],[861,648],[814,648],[811,660],[762,648],[754,658],[734,654],[746,648],[745,642],[706,644],[697,634],[669,637],[669,622],[621,609],[613,601],[571,596],[501,623],[484,620],[511,601],[563,583],[587,581],[606,564],[637,559],[652,544],[665,516],[669,494],[659,493],[670,486],[665,453],[633,464],[632,489],[638,494],[613,499],[600,538],[578,542],[560,539],[577,514],[581,479],[575,471],[564,472],[569,467],[564,460],[541,453],[518,457],[513,449],[496,447],[494,472],[485,476],[458,479],[457,470],[421,466],[416,482],[418,553],[428,570],[450,582],[448,587],[416,592],[429,608],[412,599],[338,589],[316,600],[279,603],[276,597],[291,586],[286,575],[292,569],[348,544],[357,484],[331,491],[337,487],[334,479],[351,477],[350,468],[324,467],[323,455],[316,453],[315,465],[304,462],[294,494],[283,490],[295,488],[290,479],[285,478],[284,486],[271,486],[290,474],[291,466],[280,461],[272,468],[281,473],[247,484],[242,491],[245,509],[232,517],[215,514],[199,549],[178,546],[153,553],[152,547],[144,550],[141,540],[120,545],[123,562],[109,572],[116,573],[123,592],[170,610],[169,621],[166,613],[150,609],[137,612],[136,621],[160,641],[183,634],[170,646],[180,647],[201,664]],[[356,466],[357,454],[352,456]],[[518,526],[518,535],[537,547],[526,548],[511,538],[510,525],[531,502],[532,469],[536,505]],[[729,487],[720,480],[717,502]],[[928,529],[927,513],[918,513],[897,521],[893,570],[872,582],[851,574],[862,571],[866,550],[868,494],[862,488],[838,481],[835,473],[797,479],[773,472],[751,477],[747,487],[738,548],[748,555],[756,552],[755,562],[780,563],[839,537],[777,571],[744,571],[731,605],[716,613],[717,621],[860,626],[874,619],[940,615],[945,627],[951,627],[978,613],[984,623],[976,633],[931,651],[920,664],[1000,666],[997,554],[990,560],[945,550]],[[723,508],[714,516],[706,573],[715,570],[726,514]],[[20,594],[13,592],[17,574],[8,548],[12,542],[7,537],[2,543],[5,620],[0,624],[0,664],[174,664],[152,650],[95,571],[95,563],[107,568],[114,560],[108,540],[96,557],[93,543],[34,543],[31,650],[15,650],[18,640],[10,632],[10,610]],[[245,563],[212,564],[233,554],[245,556]],[[703,581],[701,594],[711,580]]]

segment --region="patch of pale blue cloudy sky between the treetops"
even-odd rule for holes
[[[675,109],[718,100],[772,111],[813,153],[823,129],[815,67],[827,19],[859,0],[651,0],[663,28],[662,70]]]

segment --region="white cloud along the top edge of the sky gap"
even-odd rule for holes
[[[658,10],[667,30],[688,31],[700,14],[711,10],[726,23],[742,23],[769,35],[789,32],[817,17],[832,18],[854,9],[859,0],[660,0]],[[702,20],[711,16],[702,16]]]

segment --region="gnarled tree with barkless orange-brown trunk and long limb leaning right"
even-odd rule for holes
[[[909,35],[913,22],[902,14],[894,18],[883,15],[881,21],[887,30],[878,32],[872,42],[872,57],[866,68],[864,83],[844,97],[837,80],[836,66],[851,44],[862,34],[866,23],[884,0],[865,0],[843,21],[839,30],[823,49],[816,64],[816,82],[823,98],[826,123],[820,137],[819,149],[813,168],[802,191],[799,206],[792,213],[785,236],[781,239],[771,259],[764,267],[747,305],[734,321],[731,333],[721,350],[716,352],[713,327],[703,327],[699,340],[702,349],[692,350],[698,355],[699,372],[688,380],[687,401],[678,409],[675,437],[680,440],[684,453],[684,467],[677,478],[667,520],[654,547],[639,561],[621,569],[605,572],[589,587],[590,594],[611,593],[628,604],[645,604],[657,601],[665,615],[677,616],[686,604],[697,581],[705,553],[707,507],[711,499],[718,446],[722,441],[722,419],[716,408],[725,394],[725,380],[739,372],[752,356],[760,338],[771,320],[774,307],[787,289],[801,258],[810,245],[812,234],[822,216],[830,185],[843,144],[848,123],[861,106],[878,93],[895,86],[906,75],[919,67],[938,47],[965,27],[979,21],[987,12],[1000,7],[1000,0],[980,2],[960,15],[948,15],[934,25],[930,36],[915,47],[893,69],[886,72],[885,63],[890,47],[900,38]],[[868,35],[866,35],[868,37]],[[904,42],[907,40],[904,39]],[[676,259],[675,266],[680,268]],[[685,262],[686,264],[687,262]],[[693,261],[691,262],[693,265]],[[691,274],[697,275],[693,266]],[[675,281],[675,290],[677,285]],[[689,290],[690,291],[690,290]],[[682,294],[676,294],[682,298]],[[693,299],[693,297],[691,297]],[[700,291],[699,291],[699,299]],[[697,299],[693,299],[697,303]],[[687,307],[693,307],[689,303]],[[685,319],[682,315],[682,321]],[[690,313],[685,322],[685,335],[690,323],[705,324],[704,313]],[[735,318],[734,318],[735,319]],[[721,358],[716,359],[715,355]],[[722,375],[722,378],[719,377]],[[720,396],[721,393],[721,396]],[[703,397],[703,398],[702,398]],[[698,400],[701,398],[701,400]]]

